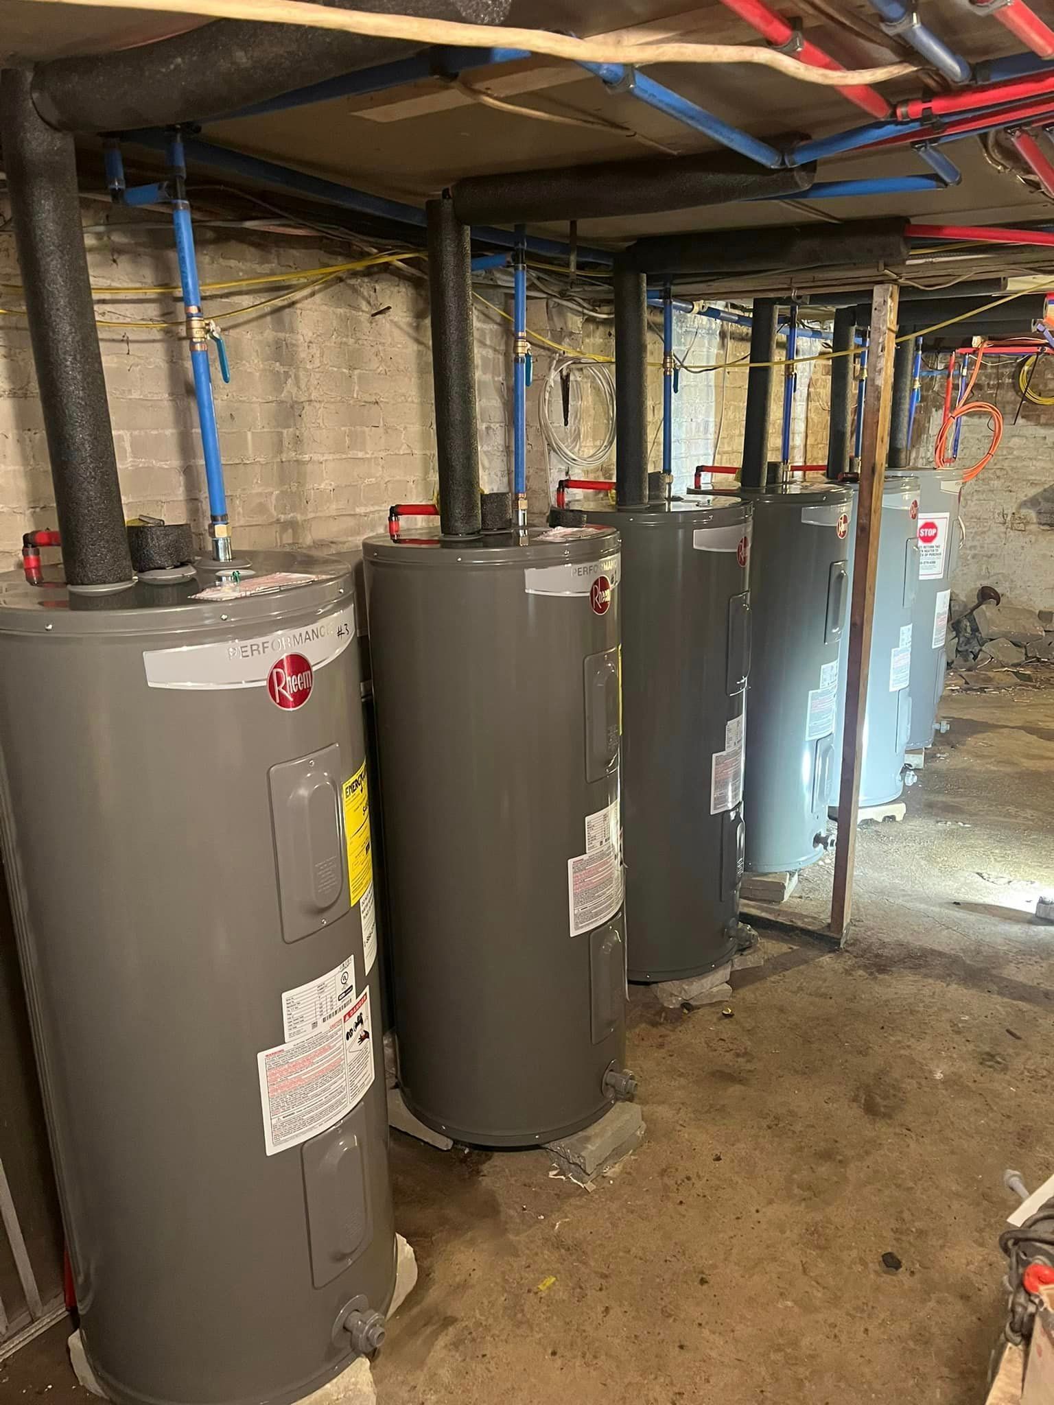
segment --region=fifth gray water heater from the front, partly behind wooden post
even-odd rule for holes
[[[850,552],[852,575],[856,555],[856,504],[860,485],[852,490]],[[915,652],[915,596],[919,584],[919,481],[913,475],[890,475],[883,490],[878,569],[874,582],[871,663],[867,676],[864,746],[860,767],[860,805],[888,805],[904,790],[904,752],[911,728],[911,669]],[[930,622],[932,628],[932,622]],[[929,645],[929,639],[923,641]],[[943,658],[943,653],[942,653]],[[842,778],[842,732],[845,722],[846,666],[849,662],[849,606],[846,606],[842,653],[835,770],[831,785],[832,811],[838,805]],[[909,773],[908,773],[909,774]]]

